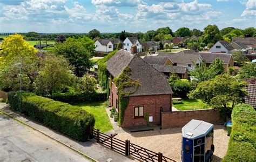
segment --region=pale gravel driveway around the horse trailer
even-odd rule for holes
[[[154,152],[161,152],[164,156],[177,161],[181,160],[181,128],[165,129],[146,132],[119,132],[118,139],[129,139],[131,143],[145,147]],[[226,154],[229,137],[223,125],[214,125],[214,159],[220,161]]]

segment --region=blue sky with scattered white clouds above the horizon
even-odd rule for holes
[[[0,32],[256,27],[256,0],[0,0]]]

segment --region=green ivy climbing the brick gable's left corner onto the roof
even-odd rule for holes
[[[139,80],[134,80],[131,77],[131,68],[126,66],[126,68],[120,73],[120,75],[114,79],[114,83],[116,83],[118,87],[118,96],[119,96],[119,125],[122,125],[124,120],[125,109],[129,103],[128,95],[136,92],[138,87],[140,86]],[[125,91],[126,88],[132,88],[130,91]]]

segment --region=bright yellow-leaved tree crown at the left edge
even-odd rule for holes
[[[11,62],[15,57],[36,57],[37,49],[29,45],[22,35],[17,33],[5,37],[2,42],[2,51],[0,53],[0,67]]]

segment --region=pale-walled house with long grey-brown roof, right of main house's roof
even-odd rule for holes
[[[193,51],[193,50],[191,50]],[[173,66],[183,66],[188,70],[194,69],[194,64],[201,65],[203,58],[199,55],[198,52],[186,53],[185,51],[180,53],[166,53],[160,52],[158,56],[167,56],[172,62]]]

